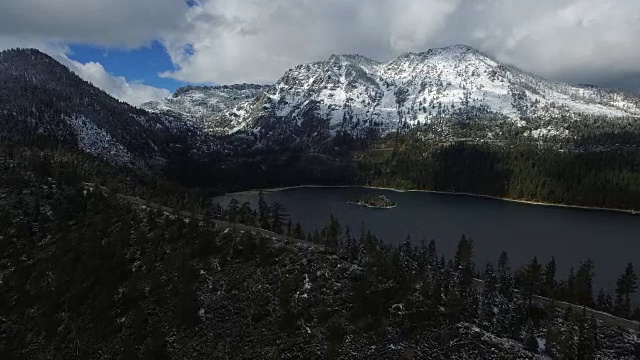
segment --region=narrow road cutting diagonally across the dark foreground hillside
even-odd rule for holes
[[[91,189],[91,190],[95,190],[96,189],[96,185],[95,184],[91,184],[91,183],[83,183],[83,186]],[[99,188],[102,191],[107,191],[108,189],[99,186]],[[184,219],[198,219],[201,221],[208,221],[211,222],[213,224],[215,224],[216,226],[223,228],[223,229],[231,229],[234,231],[239,231],[239,232],[253,232],[253,233],[257,233],[257,234],[261,234],[267,237],[271,237],[273,239],[277,239],[277,240],[281,240],[283,242],[296,242],[299,243],[301,245],[305,245],[305,246],[311,246],[317,249],[324,249],[324,246],[320,245],[320,244],[316,244],[316,243],[312,243],[303,239],[295,239],[292,238],[290,236],[286,236],[286,235],[282,235],[282,234],[277,234],[273,231],[269,231],[269,230],[264,230],[258,227],[254,227],[254,226],[248,226],[248,225],[244,225],[244,224],[238,224],[238,223],[233,223],[230,221],[224,221],[224,220],[218,220],[218,219],[213,219],[210,217],[205,217],[201,214],[194,214],[192,212],[189,211],[184,211],[184,210],[176,210],[174,208],[168,207],[168,206],[164,206],[161,204],[157,204],[154,202],[150,202],[144,199],[141,199],[139,197],[135,197],[135,196],[129,196],[129,195],[124,195],[124,194],[119,194],[116,193],[115,196],[118,199],[121,199],[123,201],[126,201],[128,203],[131,204],[135,204],[138,206],[146,206],[149,207],[151,209],[156,209],[156,210],[160,210],[163,211],[167,214],[171,214],[171,215],[177,215],[180,216]],[[474,286],[478,287],[478,288],[483,288],[484,287],[484,281],[480,280],[480,279],[474,279]],[[593,310],[591,308],[585,307],[583,305],[576,305],[576,304],[570,304],[570,303],[566,303],[566,302],[562,302],[562,301],[558,301],[558,300],[554,300],[554,299],[550,299],[550,298],[546,298],[546,297],[542,297],[542,296],[537,296],[534,295],[532,297],[532,303],[538,305],[538,306],[553,306],[553,307],[557,307],[560,309],[571,309],[573,312],[576,313],[584,313],[587,316],[593,316],[596,320],[601,321],[603,324],[607,325],[607,326],[614,326],[614,327],[621,327],[623,329],[627,329],[627,330],[634,330],[634,331],[640,331],[640,323],[634,320],[629,320],[629,319],[624,319],[624,318],[620,318],[608,313],[604,313],[601,311],[597,311],[597,310]]]

